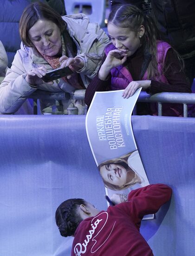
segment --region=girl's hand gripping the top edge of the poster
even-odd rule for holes
[[[150,87],[151,81],[150,80],[143,80],[143,81],[131,81],[129,85],[123,91],[123,98],[128,99],[132,96],[136,90],[142,87],[144,90]]]

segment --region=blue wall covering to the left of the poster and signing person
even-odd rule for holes
[[[106,209],[79,116],[0,116],[0,256],[68,256],[55,210],[84,197]],[[61,253],[63,252],[63,253]]]

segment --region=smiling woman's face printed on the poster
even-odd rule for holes
[[[104,181],[109,182],[110,184],[118,186],[126,184],[127,171],[119,164],[112,163],[103,165],[100,168],[100,175]]]

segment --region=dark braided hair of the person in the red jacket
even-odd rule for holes
[[[81,198],[68,199],[62,202],[56,210],[56,224],[61,236],[74,236],[78,224],[83,220],[78,208],[81,204],[86,206],[86,202]]]

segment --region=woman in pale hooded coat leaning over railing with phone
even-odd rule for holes
[[[108,36],[84,14],[61,17],[51,7],[32,3],[20,19],[21,48],[0,85],[0,112],[14,113],[37,89],[71,93],[86,88],[96,75]],[[45,83],[42,77],[57,67],[69,66],[74,73]],[[66,111],[65,101],[42,101],[45,111]]]

